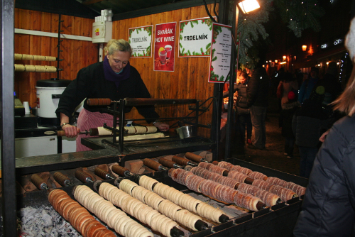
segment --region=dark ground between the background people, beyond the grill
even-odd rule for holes
[[[246,146],[243,154],[235,145],[231,145],[231,157],[289,174],[300,175],[300,155],[297,145],[294,148],[294,157],[292,159],[286,158],[284,155],[285,138],[281,136],[281,128],[278,127],[277,99],[271,98],[269,101],[270,106],[266,118],[266,150],[251,149]],[[235,144],[234,138],[232,138],[233,143]]]

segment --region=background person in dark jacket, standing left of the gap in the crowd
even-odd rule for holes
[[[256,67],[249,81],[247,105],[251,113],[254,140],[249,148],[266,149],[266,111],[268,110],[269,79],[265,68]]]

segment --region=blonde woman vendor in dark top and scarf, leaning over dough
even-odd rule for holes
[[[77,78],[70,82],[62,93],[56,110],[65,136],[77,137],[77,151],[91,150],[81,144],[81,138],[85,135],[78,135],[80,131],[89,131],[90,128],[103,126],[104,123],[113,126],[113,115],[108,114],[107,106],[89,106],[86,100],[77,119],[77,126],[72,126],[70,118],[85,98],[109,98],[111,101],[151,98],[138,70],[129,64],[132,49],[126,40],[109,40],[104,52],[106,55],[103,62],[84,67],[77,73]],[[126,107],[125,112],[128,113],[131,109]],[[168,131],[168,124],[150,119],[159,117],[154,106],[137,106],[136,109],[148,123],[153,122],[160,131]]]

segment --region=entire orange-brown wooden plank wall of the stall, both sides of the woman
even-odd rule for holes
[[[208,5],[212,16],[214,15],[213,8],[214,4]],[[218,12],[218,5],[216,11]],[[154,72],[153,57],[131,59],[131,65],[136,67],[138,72],[141,73],[141,77],[153,98],[199,99],[204,102],[213,96],[214,84],[207,82],[209,57],[178,57],[179,22],[207,16],[204,6],[196,6],[113,22],[112,38],[123,38],[125,40],[128,40],[129,28],[153,25],[155,31],[155,24],[177,22],[175,72]],[[91,37],[93,20],[72,16],[62,16],[62,20],[64,21],[62,23],[63,33]],[[58,33],[58,15],[16,9],[15,28]],[[56,56],[56,40],[56,38],[16,34],[15,53]],[[63,72],[60,72],[61,79],[75,79],[80,68],[98,60],[98,45],[91,42],[64,39],[61,47],[64,50],[61,55],[64,61],[60,64],[64,69]],[[38,64],[36,61],[20,61],[16,63]],[[45,65],[45,63],[48,62],[40,62],[40,65]],[[49,62],[48,65],[56,65],[55,63]],[[30,106],[35,106],[35,82],[38,79],[48,79],[55,76],[56,74],[54,73],[16,72],[15,90],[18,92],[21,101],[30,101]],[[204,105],[208,106],[211,102],[212,99],[209,99]],[[191,112],[187,106],[157,106],[157,111],[161,117],[186,116]],[[142,117],[133,109],[127,115],[127,118]],[[199,122],[202,124],[212,123],[212,105],[209,107],[209,111],[201,116]],[[201,136],[209,137],[209,132],[209,129],[206,128],[199,129]]]

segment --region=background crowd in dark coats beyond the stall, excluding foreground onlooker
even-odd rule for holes
[[[244,148],[266,150],[268,97],[276,95],[279,99],[280,133],[285,138],[285,158],[293,158],[297,145],[300,176],[309,178],[322,145],[322,134],[344,116],[333,111],[330,105],[342,92],[337,63],[329,62],[324,76],[320,76],[317,67],[312,67],[308,74],[299,70],[285,72],[281,67],[274,78],[268,77],[260,65],[254,70],[239,70],[236,82],[235,127],[239,153],[244,153]],[[273,84],[277,86],[273,87]],[[228,92],[224,92],[224,97],[227,96]]]

